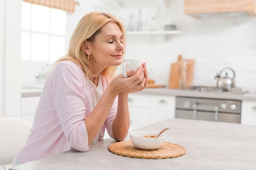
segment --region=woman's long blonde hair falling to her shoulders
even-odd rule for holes
[[[123,24],[119,21],[119,19],[109,13],[100,13],[100,12],[91,12],[86,14],[81,18],[79,23],[77,24],[74,33],[70,39],[70,46],[68,49],[68,53],[66,56],[59,58],[53,65],[50,72],[57,65],[58,62],[63,60],[70,60],[74,63],[78,64],[80,68],[85,73],[87,78],[92,78],[93,74],[90,71],[90,62],[88,59],[88,54],[83,52],[81,49],[81,45],[84,40],[93,42],[95,41],[95,37],[101,32],[101,27],[107,24],[108,22],[115,22],[119,26],[121,32],[125,35],[125,29]],[[123,38],[123,44],[126,48],[126,36]],[[123,55],[124,57],[124,55]],[[110,66],[105,68],[101,75],[108,76],[110,79],[114,78],[116,75],[116,66]]]

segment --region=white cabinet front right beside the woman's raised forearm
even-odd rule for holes
[[[129,94],[130,130],[150,124],[150,95]]]

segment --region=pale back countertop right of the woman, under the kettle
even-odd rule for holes
[[[198,97],[198,98],[218,98],[229,100],[254,100],[256,101],[256,92],[244,93],[244,94],[231,94],[229,92],[198,92],[191,90],[181,89],[169,89],[169,88],[146,88],[138,94],[159,94],[159,95],[171,95],[171,96],[186,96],[186,97]]]

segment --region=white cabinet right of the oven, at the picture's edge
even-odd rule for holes
[[[242,101],[241,124],[256,125],[256,101]]]

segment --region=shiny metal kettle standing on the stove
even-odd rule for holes
[[[221,76],[221,73],[224,71],[224,70],[231,70],[234,74],[233,78],[229,77],[227,75],[227,72],[226,72],[226,75],[224,77],[220,77]],[[217,79],[217,87],[218,88],[222,88],[223,90],[227,90],[227,91],[230,91],[232,87],[235,87],[235,72],[234,70],[232,70],[231,68],[223,68],[221,71],[220,71],[220,74],[217,74],[217,76],[215,76],[215,78]]]

